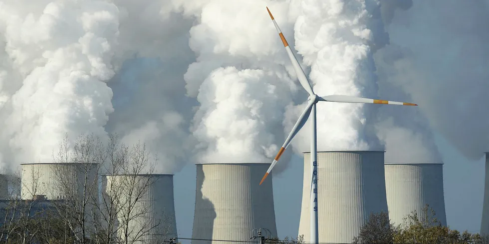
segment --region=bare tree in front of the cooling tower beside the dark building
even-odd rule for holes
[[[105,145],[93,134],[81,135],[71,145],[68,137],[53,153],[51,197],[57,218],[74,235],[76,243],[87,244],[96,236],[98,221],[98,167],[107,158]]]

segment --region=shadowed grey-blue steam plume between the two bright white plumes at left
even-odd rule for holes
[[[183,76],[195,54],[188,44],[192,21],[172,12],[170,1],[114,0],[120,12],[121,71],[109,86],[114,113],[108,132],[127,145],[146,143],[157,154],[156,172],[178,172],[192,144],[189,126],[194,98],[184,94]],[[156,30],[156,31],[155,31]]]

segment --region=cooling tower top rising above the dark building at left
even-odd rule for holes
[[[94,189],[92,198],[98,201],[98,164],[39,163],[21,166],[22,199],[30,200],[34,195],[43,195],[48,200],[67,199],[70,196],[75,197],[74,195],[83,199],[87,175],[86,189]]]

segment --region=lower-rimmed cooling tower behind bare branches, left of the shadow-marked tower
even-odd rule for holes
[[[124,241],[163,243],[177,238],[173,175],[106,175],[105,196],[116,202],[117,233]],[[108,213],[106,211],[105,213]],[[178,242],[178,240],[177,240]]]

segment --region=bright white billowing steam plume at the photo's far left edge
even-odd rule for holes
[[[15,70],[0,81],[2,100],[8,96],[0,110],[5,161],[50,161],[66,133],[106,136],[113,108],[105,82],[115,73],[118,26],[118,9],[106,1],[0,2],[0,33]]]

